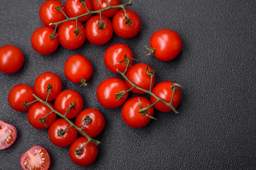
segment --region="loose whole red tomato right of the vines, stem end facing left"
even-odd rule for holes
[[[155,48],[153,53],[160,61],[175,59],[182,49],[182,39],[173,30],[161,29],[150,37],[150,47]]]

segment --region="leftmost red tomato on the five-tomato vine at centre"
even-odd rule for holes
[[[121,106],[128,97],[128,92],[119,99],[116,94],[121,91],[128,90],[128,87],[124,81],[120,78],[107,78],[102,81],[96,91],[97,99],[99,103],[104,107],[113,109]]]

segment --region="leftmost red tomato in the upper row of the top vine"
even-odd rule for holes
[[[39,17],[41,22],[45,26],[50,26],[52,28],[55,28],[55,25],[49,25],[50,23],[54,22],[60,22],[66,19],[65,15],[59,11],[56,10],[56,7],[62,7],[62,11],[66,13],[65,7],[62,4],[61,1],[58,0],[47,0],[41,4],[39,8]]]

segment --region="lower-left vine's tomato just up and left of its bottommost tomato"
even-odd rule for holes
[[[74,127],[70,127],[70,124],[65,119],[57,119],[50,126],[48,135],[54,145],[66,147],[76,139],[77,130]]]

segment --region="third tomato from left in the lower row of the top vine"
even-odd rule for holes
[[[99,15],[92,16],[85,24],[86,37],[94,45],[106,44],[113,35],[111,21],[104,16],[101,16],[101,19],[105,28],[99,28],[99,24],[101,25]]]

